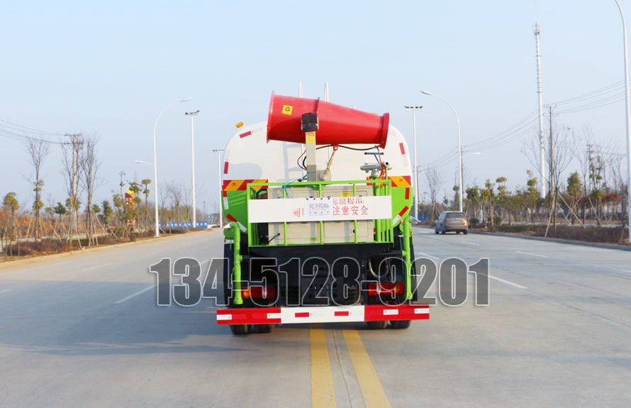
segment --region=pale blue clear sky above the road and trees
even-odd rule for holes
[[[631,2],[622,6],[631,18]],[[158,125],[158,177],[190,183],[184,111],[201,109],[197,202],[210,211],[218,196],[211,150],[223,148],[238,121],[264,120],[272,91],[297,94],[300,81],[306,97],[321,97],[328,81],[330,101],[390,112],[409,143],[412,120],[403,105],[423,105],[417,116],[423,165],[453,151],[457,140],[451,111],[421,89],[454,105],[464,145],[537,109],[535,21],[542,27],[544,103],[624,78],[613,0],[3,1],[0,10],[0,119],[98,134],[99,201],[118,191],[121,170],[127,180],[152,178],[150,166],[133,160],[152,160],[155,117],[184,97],[193,100]],[[579,131],[590,126],[603,145],[625,152],[622,101],[555,121]],[[525,184],[525,170],[536,170],[520,151],[527,138],[537,131],[465,158],[469,184],[501,175],[511,187]],[[20,142],[0,137],[0,194],[16,191],[30,200],[27,159]],[[456,166],[455,158],[439,165],[445,189]],[[43,172],[47,199],[49,193],[65,199],[59,170],[53,146]]]

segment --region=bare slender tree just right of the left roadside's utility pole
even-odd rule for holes
[[[99,172],[101,162],[96,158],[96,144],[99,143],[99,137],[95,135],[85,136],[82,149],[79,152],[79,168],[81,169],[82,187],[86,191],[86,226],[89,245],[96,244],[96,214],[92,209],[92,197],[94,189],[98,187],[98,179],[96,173]]]

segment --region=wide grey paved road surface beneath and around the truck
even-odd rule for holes
[[[2,268],[0,407],[631,406],[630,252],[414,233],[439,263],[490,258],[490,306],[235,337],[209,299],[157,307],[147,270],[208,265],[216,231]]]

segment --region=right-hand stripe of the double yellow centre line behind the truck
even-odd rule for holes
[[[362,338],[357,330],[342,330],[346,340],[346,346],[353,362],[355,375],[359,387],[364,395],[364,402],[367,407],[390,407],[390,402],[386,397],[384,386],[381,385],[379,375],[377,375],[370,360],[370,356],[364,347]]]

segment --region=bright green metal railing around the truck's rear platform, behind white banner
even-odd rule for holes
[[[311,187],[313,189],[318,189],[318,197],[323,198],[323,187],[328,185],[335,184],[345,184],[352,185],[352,194],[353,196],[357,194],[357,184],[372,184],[373,194],[375,196],[384,197],[391,196],[391,188],[392,182],[389,179],[369,179],[369,180],[347,180],[347,181],[319,181],[319,182],[310,182],[303,181],[300,183],[282,183],[282,182],[272,182],[272,183],[248,183],[246,185],[246,194],[245,194],[245,204],[246,208],[250,208],[250,199],[257,199],[256,195],[258,190],[256,187]],[[283,188],[283,198],[287,198],[286,188]],[[249,219],[250,217],[248,217]],[[409,221],[409,219],[408,219]],[[249,247],[257,247],[257,246],[296,246],[296,245],[325,245],[324,243],[324,223],[327,221],[313,221],[320,223],[320,241],[318,243],[309,243],[309,244],[291,244],[287,243],[287,221],[283,222],[283,238],[284,242],[282,244],[265,244],[261,245],[256,242],[257,237],[257,224],[252,224],[250,221],[247,222],[247,246]],[[354,231],[354,239],[353,243],[362,243],[358,241],[357,238],[357,220],[353,220],[353,231]],[[373,220],[374,225],[374,241],[369,241],[367,243],[393,243],[394,242],[394,231],[393,231],[393,223],[392,219],[389,217],[387,219],[375,219]],[[348,243],[326,243],[334,244],[334,245],[345,245]]]

